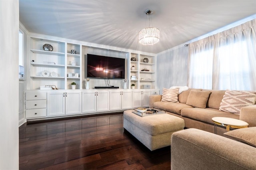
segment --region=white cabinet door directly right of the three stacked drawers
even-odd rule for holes
[[[47,116],[65,115],[65,92],[47,93]]]

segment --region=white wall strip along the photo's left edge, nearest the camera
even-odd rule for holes
[[[19,1],[0,0],[0,169],[19,168]]]

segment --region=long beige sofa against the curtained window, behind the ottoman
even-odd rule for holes
[[[206,91],[210,93],[206,108],[198,108],[186,104],[190,91],[192,90]],[[220,111],[220,103],[224,94],[225,90],[188,89],[178,95],[178,102],[161,101],[162,95],[152,95],[150,96],[150,107],[165,109],[168,114],[184,119],[186,128],[197,128],[212,133],[214,133],[212,117],[240,119],[247,122],[249,127],[256,127],[256,105],[243,107],[240,111],[240,115]],[[196,104],[200,105],[200,101],[195,102],[199,102]],[[225,128],[217,128],[217,132],[220,135],[223,135],[223,133],[226,132]]]

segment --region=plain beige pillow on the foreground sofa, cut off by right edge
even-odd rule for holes
[[[224,133],[228,137],[256,147],[256,127],[239,128]]]

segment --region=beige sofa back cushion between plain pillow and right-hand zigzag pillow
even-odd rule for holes
[[[206,104],[206,107],[212,108],[212,109],[219,109],[220,108],[220,102],[222,101],[222,98],[225,94],[226,90],[205,90],[203,91],[210,91],[209,99]]]

